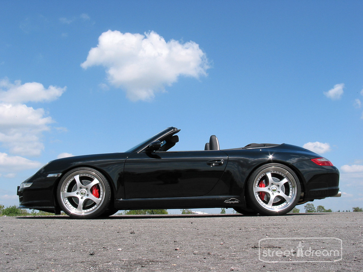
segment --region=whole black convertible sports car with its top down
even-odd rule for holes
[[[339,171],[326,158],[289,144],[168,151],[180,129],[169,127],[124,153],[61,158],[17,188],[19,208],[73,218],[118,210],[233,208],[281,215],[295,205],[340,196]]]

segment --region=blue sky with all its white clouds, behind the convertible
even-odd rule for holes
[[[363,200],[362,1],[2,1],[0,203],[60,156],[289,143]],[[91,50],[92,49],[92,50]],[[66,154],[65,154],[66,153]],[[299,206],[303,210],[303,206]]]

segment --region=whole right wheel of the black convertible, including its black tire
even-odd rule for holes
[[[297,175],[282,164],[257,168],[247,182],[248,204],[263,215],[283,215],[294,209],[301,194]]]

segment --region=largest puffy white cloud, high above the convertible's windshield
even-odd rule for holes
[[[133,101],[152,99],[181,75],[199,78],[209,68],[205,53],[193,41],[166,42],[155,32],[111,30],[99,36],[97,47],[81,64],[84,69],[95,65],[105,66],[110,83],[123,88]]]

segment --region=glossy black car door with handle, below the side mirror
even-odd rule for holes
[[[227,165],[223,151],[134,153],[125,162],[126,198],[197,197],[207,194]]]

